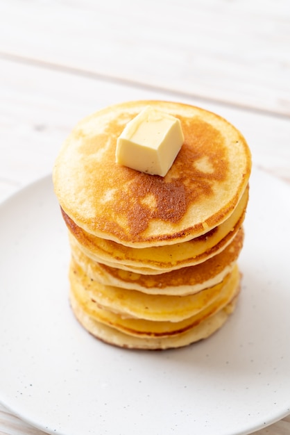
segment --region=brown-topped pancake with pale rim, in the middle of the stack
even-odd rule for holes
[[[239,229],[234,240],[220,254],[200,263],[163,274],[144,275],[110,268],[92,261],[76,243],[71,245],[71,254],[89,277],[103,286],[115,286],[139,290],[151,295],[193,295],[215,286],[231,272],[237,261],[244,241],[244,229]]]

